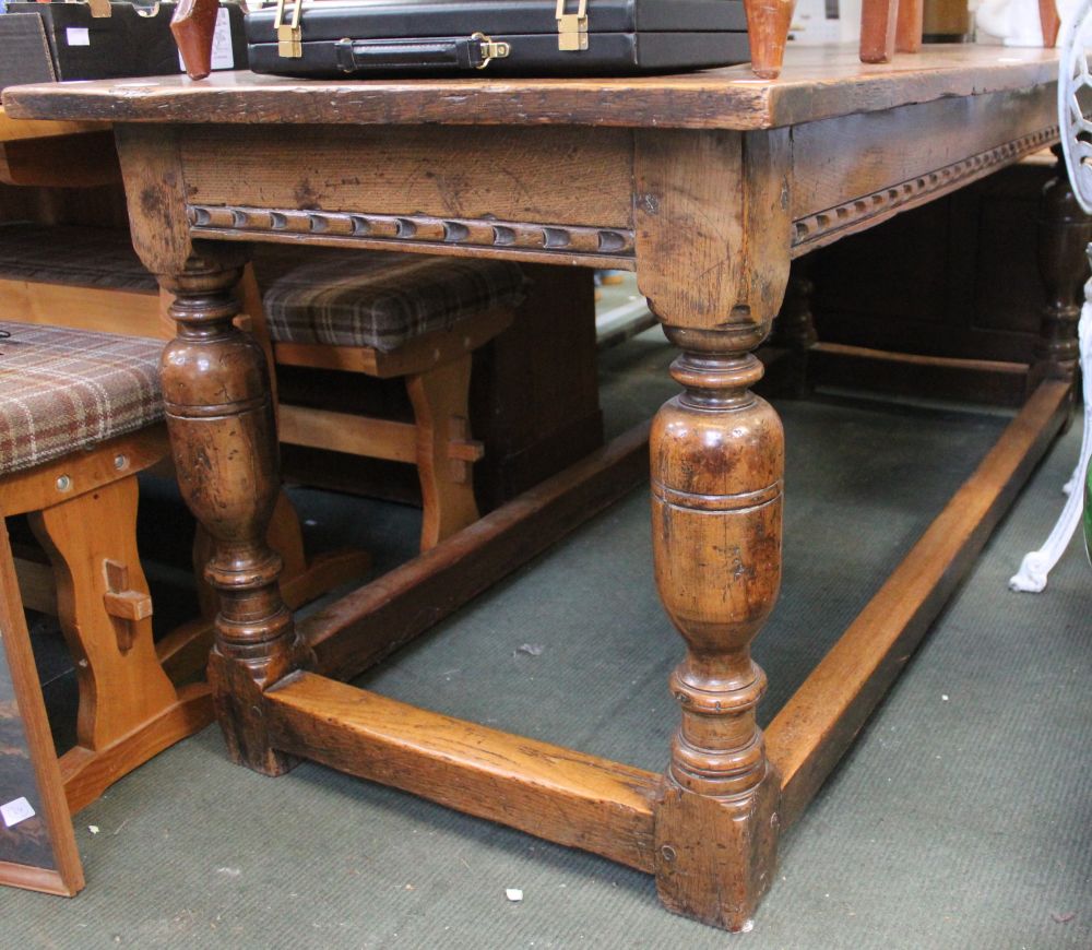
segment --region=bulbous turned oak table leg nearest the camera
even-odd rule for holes
[[[750,656],[781,583],[784,434],[749,390],[768,329],[667,330],[684,392],[651,435],[656,583],[687,646],[670,679],[682,720],[656,810],[656,886],[668,910],[729,930],[773,878],[781,794]]]

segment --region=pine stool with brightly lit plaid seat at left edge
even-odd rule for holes
[[[0,323],[0,515],[29,516],[76,663],[76,746],[60,759],[73,811],[212,720],[207,688],[176,688],[156,656],[136,553],[136,473],[168,451],[162,349],[158,340]],[[5,527],[0,558],[13,577]],[[0,595],[23,624],[20,591]],[[27,637],[25,625],[13,634]]]

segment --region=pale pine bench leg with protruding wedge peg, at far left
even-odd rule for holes
[[[78,745],[61,758],[72,810],[212,722],[209,690],[176,690],[156,656],[136,499],[129,476],[31,515],[80,686]]]

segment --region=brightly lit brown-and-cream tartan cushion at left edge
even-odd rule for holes
[[[162,340],[0,322],[0,474],[163,418]]]

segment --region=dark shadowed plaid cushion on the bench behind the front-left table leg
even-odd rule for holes
[[[154,294],[124,228],[0,224],[0,280]]]

